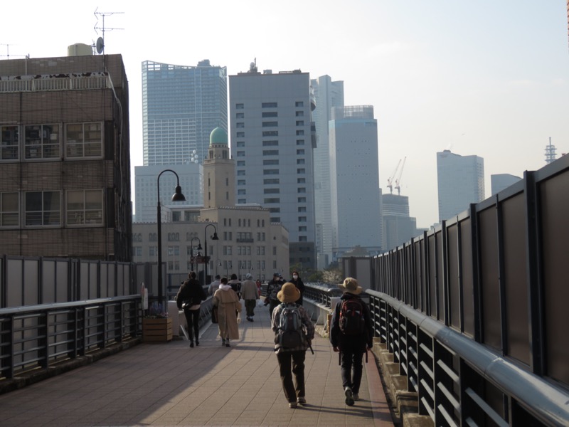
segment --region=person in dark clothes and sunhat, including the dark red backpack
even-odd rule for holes
[[[353,406],[359,400],[363,353],[373,344],[373,324],[368,305],[358,296],[363,290],[358,280],[346,278],[339,287],[344,295],[332,315],[330,342],[334,352],[340,352],[346,405]]]

